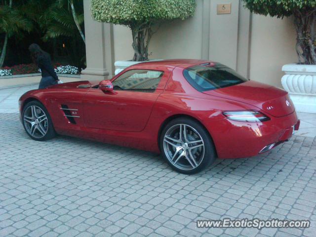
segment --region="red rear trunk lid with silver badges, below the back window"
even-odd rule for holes
[[[289,115],[295,110],[286,91],[253,80],[203,93],[247,103],[275,117]]]

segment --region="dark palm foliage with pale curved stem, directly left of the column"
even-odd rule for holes
[[[42,40],[62,43],[70,63],[79,69],[85,64],[82,0],[28,0],[28,17],[38,23]],[[56,49],[56,47],[55,47]]]

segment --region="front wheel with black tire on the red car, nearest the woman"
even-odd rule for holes
[[[35,109],[35,111],[32,111],[33,109]],[[31,114],[32,118],[30,118]],[[33,114],[36,114],[37,117],[33,116]],[[45,116],[46,119],[43,116]],[[43,121],[40,122],[41,120]],[[36,141],[46,141],[56,136],[56,132],[48,111],[46,110],[45,106],[37,100],[30,101],[24,106],[22,111],[22,124],[26,133]]]

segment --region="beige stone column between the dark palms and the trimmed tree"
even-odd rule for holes
[[[114,75],[113,25],[95,21],[91,1],[83,0],[86,69],[82,80],[103,80]]]

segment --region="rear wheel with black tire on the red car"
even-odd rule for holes
[[[180,173],[198,173],[216,158],[210,135],[194,119],[181,117],[170,121],[162,129],[159,139],[162,156],[174,170]]]

